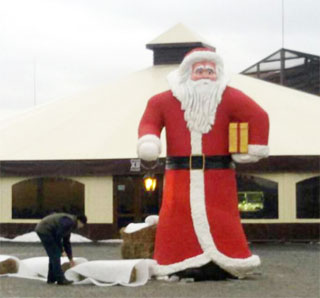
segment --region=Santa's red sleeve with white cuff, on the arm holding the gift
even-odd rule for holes
[[[247,122],[249,124],[248,154],[260,158],[269,154],[269,116],[255,101],[243,92],[228,88],[228,108],[230,122]]]

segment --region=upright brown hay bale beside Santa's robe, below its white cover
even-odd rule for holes
[[[121,255],[123,259],[152,259],[156,225],[152,225],[133,233],[126,233],[125,228],[120,230],[123,243]]]

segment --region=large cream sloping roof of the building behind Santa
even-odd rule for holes
[[[179,25],[173,31],[178,34],[181,28]],[[179,36],[167,40],[182,40]],[[190,38],[185,41],[192,43]],[[160,36],[155,39],[159,41],[166,39]],[[0,160],[135,158],[138,124],[147,101],[168,89],[166,76],[176,67],[155,65],[1,121]],[[251,96],[268,112],[271,155],[320,155],[318,96],[245,75],[235,75],[230,85]]]

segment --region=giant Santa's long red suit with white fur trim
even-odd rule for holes
[[[167,156],[226,156],[230,122],[248,122],[249,155],[265,157],[268,115],[231,87],[224,89],[212,128],[204,134],[188,129],[181,102],[172,91],[152,97],[140,122],[138,152],[139,146],[153,144],[160,153],[160,133],[165,127]],[[241,226],[233,168],[166,169],[154,259],[156,275],[213,261],[243,277],[260,265]]]

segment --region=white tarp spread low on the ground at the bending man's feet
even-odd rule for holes
[[[18,277],[37,279],[46,282],[48,274],[48,257],[35,257],[19,260],[14,256],[0,255],[0,262],[8,259],[17,262],[18,272],[0,275],[2,277]],[[142,286],[153,274],[154,260],[97,260],[88,261],[85,258],[75,258],[76,266],[65,272],[67,279],[73,285],[94,284],[97,286]],[[68,262],[61,258],[61,264]]]

